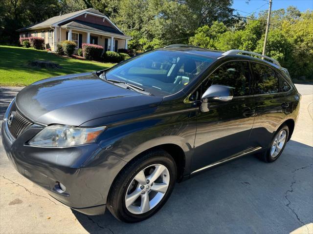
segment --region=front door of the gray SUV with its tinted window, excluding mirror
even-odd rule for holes
[[[208,112],[199,111],[193,171],[250,148],[255,108],[249,63],[224,63],[202,83],[201,95],[212,84],[233,87],[234,97],[225,103],[209,103]]]

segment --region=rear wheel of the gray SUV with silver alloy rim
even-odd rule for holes
[[[266,162],[274,162],[283,153],[289,137],[289,128],[287,125],[281,126],[274,135],[270,147],[261,155]]]

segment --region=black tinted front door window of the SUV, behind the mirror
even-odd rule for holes
[[[234,61],[222,65],[209,76],[205,83],[205,90],[212,84],[233,87],[235,97],[249,95],[250,73],[248,62]]]

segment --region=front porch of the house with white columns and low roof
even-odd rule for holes
[[[83,43],[97,44],[104,48],[104,51],[115,51],[127,49],[128,40],[131,39],[110,27],[83,22],[79,20],[71,21],[56,28],[56,42],[71,40],[77,44],[77,48],[82,48]],[[56,50],[56,47],[54,48]]]

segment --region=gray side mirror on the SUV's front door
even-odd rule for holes
[[[202,95],[201,102],[226,102],[233,99],[233,88],[225,85],[213,84]]]

